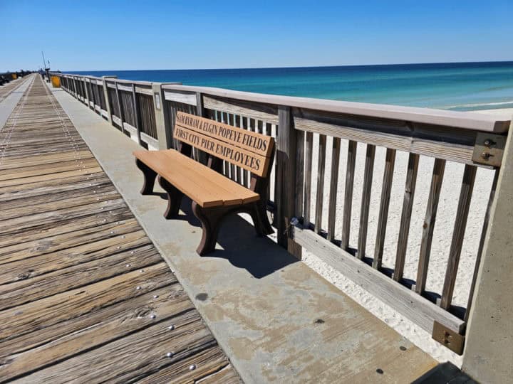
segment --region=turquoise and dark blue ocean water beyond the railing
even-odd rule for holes
[[[513,107],[513,62],[219,70],[65,71],[332,100],[487,110]]]

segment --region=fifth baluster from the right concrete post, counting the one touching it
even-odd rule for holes
[[[381,187],[381,202],[378,216],[378,231],[376,234],[373,268],[379,270],[383,260],[385,247],[386,226],[388,220],[388,206],[390,206],[390,193],[392,191],[392,178],[395,166],[395,149],[388,148],[385,155],[385,171],[383,172],[383,186]]]

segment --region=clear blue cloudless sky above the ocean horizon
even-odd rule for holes
[[[513,0],[0,0],[0,70],[513,60]]]

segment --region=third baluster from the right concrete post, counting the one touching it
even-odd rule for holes
[[[442,188],[444,171],[445,160],[435,159],[431,178],[430,194],[429,198],[427,199],[426,214],[423,224],[423,235],[422,240],[420,240],[417,281],[415,282],[415,292],[418,294],[423,294],[425,289],[427,267],[429,267],[431,254],[432,234],[433,230],[435,230],[438,201],[440,199],[440,189]]]

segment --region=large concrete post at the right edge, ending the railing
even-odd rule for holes
[[[513,127],[499,169],[467,326],[462,370],[480,383],[513,376]]]

